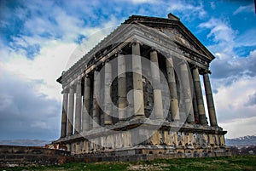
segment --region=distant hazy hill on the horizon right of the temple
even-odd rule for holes
[[[235,139],[226,139],[226,145],[228,146],[250,146],[256,145],[256,136],[244,136]]]

